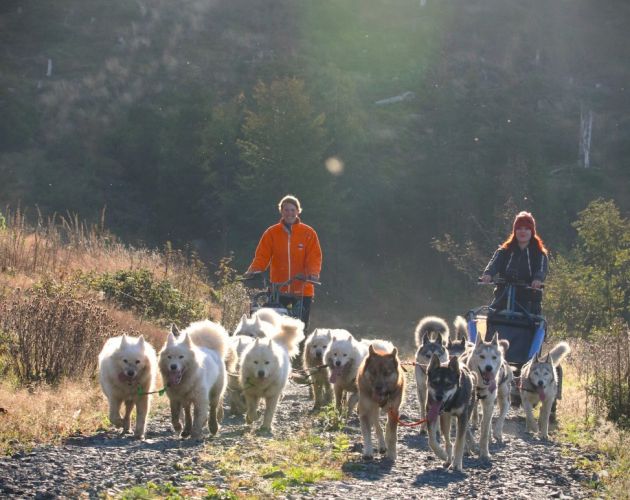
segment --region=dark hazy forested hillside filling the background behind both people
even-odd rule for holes
[[[552,256],[593,200],[628,213],[629,24],[621,0],[5,0],[0,207],[104,213],[212,276],[293,193],[314,321],[410,332],[487,300],[517,211]]]

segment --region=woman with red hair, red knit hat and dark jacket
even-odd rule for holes
[[[536,221],[529,212],[520,212],[514,218],[512,233],[503,244],[494,252],[488,262],[481,281],[490,283],[495,277],[509,282],[528,283],[532,289],[518,287],[516,289],[516,302],[528,312],[540,314],[542,287],[549,259],[547,249],[536,234]],[[506,287],[499,284],[494,291],[494,301],[491,307],[501,310],[507,303]]]

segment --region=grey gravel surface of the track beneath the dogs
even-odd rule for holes
[[[295,433],[312,421],[307,388],[289,384],[276,416],[275,437]],[[403,413],[417,415],[415,388],[408,391]],[[227,489],[226,478],[212,463],[199,460],[204,447],[231,447],[242,439],[242,417],[226,417],[216,438],[205,443],[174,438],[164,406],[152,414],[147,439],[139,442],[109,431],[77,436],[62,446],[45,446],[30,453],[0,459],[0,493],[11,498],[98,498],[117,496],[136,484],[170,482],[187,492],[212,483]],[[585,477],[577,470],[566,445],[541,442],[524,432],[522,410],[512,409],[506,422],[506,442],[491,446],[492,463],[464,458],[464,473],[444,469],[417,428],[399,430],[398,460],[361,459],[361,435],[356,418],[346,432],[352,452],[342,466],[340,481],[316,483],[293,498],[584,498]],[[577,450],[573,450],[577,451]],[[186,466],[182,467],[181,464]],[[200,480],[200,476],[204,479]],[[246,492],[242,492],[246,493]],[[287,495],[282,495],[287,496]]]

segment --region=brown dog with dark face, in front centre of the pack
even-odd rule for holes
[[[405,377],[398,359],[398,351],[390,342],[370,344],[368,355],[361,362],[357,374],[359,387],[359,419],[363,434],[363,458],[372,459],[372,427],[376,431],[378,447],[387,458],[396,460],[398,411],[404,398]],[[385,436],[379,422],[380,412],[387,412]]]

